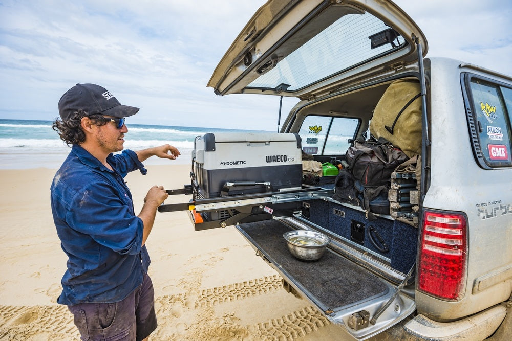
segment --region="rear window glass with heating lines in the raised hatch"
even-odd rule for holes
[[[389,42],[374,44],[379,37]],[[344,15],[279,60],[270,71],[260,69],[261,76],[248,87],[286,84],[285,90],[291,92],[406,46],[402,36],[370,13]]]

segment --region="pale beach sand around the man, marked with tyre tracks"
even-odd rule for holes
[[[188,184],[188,165],[148,166],[126,177],[136,212],[148,188]],[[0,340],[75,340],[56,303],[67,257],[50,209],[55,170],[0,170]],[[170,196],[165,203],[187,202]],[[346,339],[232,227],[194,231],[186,212],[157,213],[146,242],[159,326],[151,340]]]

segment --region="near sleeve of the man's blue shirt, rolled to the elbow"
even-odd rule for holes
[[[70,201],[66,222],[77,232],[121,255],[134,255],[142,247],[144,225],[133,214],[131,201],[123,202],[108,181],[94,181]]]

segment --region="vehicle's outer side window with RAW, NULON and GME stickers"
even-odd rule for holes
[[[510,109],[512,90],[481,79],[470,82],[478,143],[489,167],[512,165]]]

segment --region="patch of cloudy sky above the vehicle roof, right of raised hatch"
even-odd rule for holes
[[[512,3],[501,0],[396,0],[421,28],[428,56],[442,56],[512,74]]]

